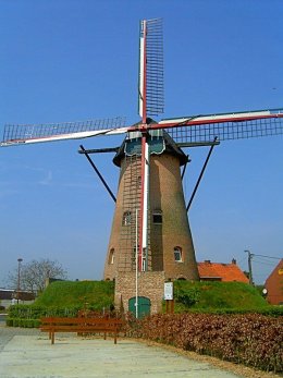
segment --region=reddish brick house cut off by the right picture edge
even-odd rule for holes
[[[283,259],[268,277],[264,288],[267,289],[267,300],[271,305],[283,305]]]

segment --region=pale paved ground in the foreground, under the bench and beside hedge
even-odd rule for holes
[[[0,325],[1,378],[236,378],[208,363],[132,340],[56,338]]]

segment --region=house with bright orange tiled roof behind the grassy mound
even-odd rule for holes
[[[200,281],[235,281],[248,283],[248,278],[239,269],[234,258],[231,264],[205,260],[204,263],[198,263],[197,266]]]

